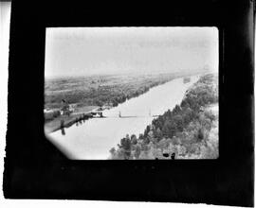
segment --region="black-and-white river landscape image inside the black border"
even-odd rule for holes
[[[47,27],[46,138],[73,160],[219,157],[217,27]]]

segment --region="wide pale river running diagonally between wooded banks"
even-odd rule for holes
[[[103,111],[104,118],[92,118],[78,126],[65,128],[64,134],[57,130],[47,135],[47,138],[69,159],[105,160],[110,155],[111,147],[117,147],[127,133],[138,136],[151,124],[155,115],[173,110],[176,104],[180,104],[186,90],[198,78],[194,76],[188,83],[183,83],[183,78],[175,78]]]

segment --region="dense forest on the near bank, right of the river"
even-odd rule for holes
[[[204,75],[173,111],[155,118],[144,133],[126,135],[110,159],[215,159],[218,157],[218,78]]]

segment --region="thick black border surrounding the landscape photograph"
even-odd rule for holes
[[[250,0],[172,1],[169,5],[12,1],[5,198],[253,206],[253,7]],[[43,128],[47,26],[217,26],[220,158],[67,160],[46,140]]]

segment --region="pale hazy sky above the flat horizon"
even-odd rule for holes
[[[46,77],[218,71],[216,27],[48,27]]]

